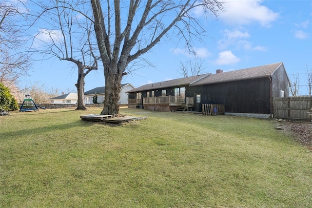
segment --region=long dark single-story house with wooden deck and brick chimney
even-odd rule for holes
[[[229,113],[273,113],[273,98],[289,96],[290,81],[283,62],[215,74],[202,74],[128,91],[129,107],[171,111],[201,104],[225,105]]]

